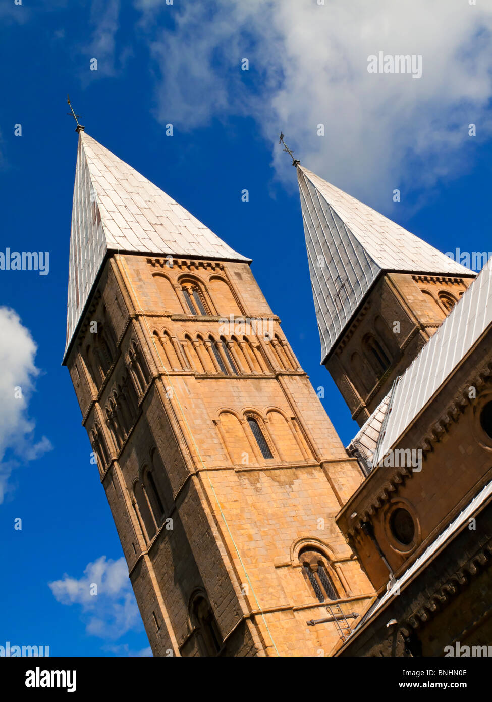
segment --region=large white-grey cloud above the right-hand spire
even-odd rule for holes
[[[471,122],[477,139],[492,133],[490,4],[217,0],[173,6],[165,31],[158,1],[135,4],[160,68],[158,118],[186,130],[252,115],[291,182],[280,129],[305,166],[373,201],[468,168]],[[423,76],[369,74],[368,56],[378,51],[422,55]]]

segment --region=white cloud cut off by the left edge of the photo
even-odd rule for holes
[[[34,420],[27,413],[34,380],[39,375],[36,344],[18,314],[0,307],[0,503],[8,477],[16,465],[34,461],[52,446],[46,437],[34,438]],[[15,458],[8,457],[12,454]]]

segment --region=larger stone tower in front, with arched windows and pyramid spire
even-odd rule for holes
[[[250,263],[79,128],[64,364],[158,656],[328,656],[373,596],[361,468]]]

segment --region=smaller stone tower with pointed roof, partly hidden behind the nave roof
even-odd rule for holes
[[[363,425],[475,273],[298,166],[321,363]]]

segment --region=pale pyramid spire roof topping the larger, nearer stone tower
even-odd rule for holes
[[[251,261],[135,168],[80,131],[65,357],[108,251]]]

